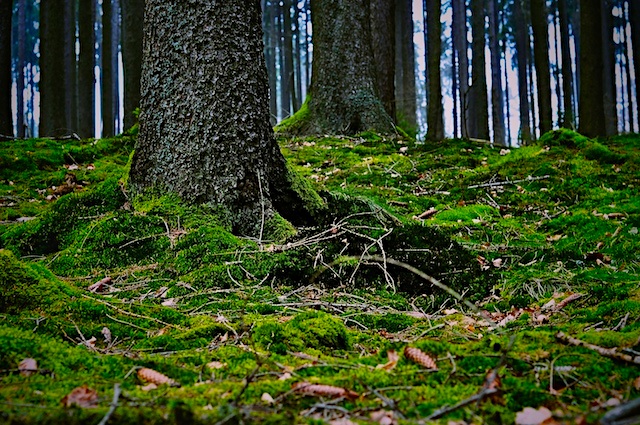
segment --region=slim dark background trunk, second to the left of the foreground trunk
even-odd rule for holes
[[[112,0],[102,1],[102,137],[112,137],[115,134],[115,119],[113,117],[113,27]]]

